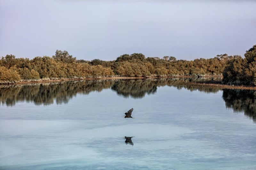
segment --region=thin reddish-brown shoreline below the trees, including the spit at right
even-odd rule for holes
[[[205,76],[200,78],[221,78],[222,76]],[[54,82],[64,82],[64,81],[80,81],[80,80],[111,80],[111,79],[160,79],[160,78],[197,78],[190,76],[181,76],[181,77],[104,77],[104,78],[63,78],[63,79],[42,79],[38,81],[20,81],[20,82],[6,82],[0,83],[1,85],[28,85],[28,84],[41,84],[41,83],[54,83]],[[218,87],[220,89],[240,89],[240,90],[256,90],[256,86],[247,86],[247,85],[227,85],[214,82],[183,82],[183,85],[195,85],[198,88],[204,87]]]

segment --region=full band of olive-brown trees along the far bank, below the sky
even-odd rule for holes
[[[6,55],[0,60],[0,82],[38,81],[50,79],[83,79],[104,77],[205,77],[222,76],[230,84],[256,85],[256,45],[239,55],[217,55],[193,61],[173,56],[145,57],[141,53],[124,54],[114,61],[76,60],[67,51],[33,59]]]

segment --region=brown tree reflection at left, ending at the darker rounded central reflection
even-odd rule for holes
[[[36,105],[67,103],[77,93],[89,94],[110,88],[114,81],[68,81],[35,85],[11,85],[0,87],[0,103],[13,106],[18,101],[34,102]]]

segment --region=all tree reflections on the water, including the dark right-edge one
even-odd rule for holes
[[[143,98],[146,94],[155,94],[158,87],[171,86],[177,89],[216,93],[219,87],[202,86],[191,82],[216,81],[205,78],[158,78],[158,79],[114,79],[90,81],[66,81],[31,85],[0,86],[0,104],[14,106],[18,102],[32,102],[35,105],[66,104],[76,94],[89,94],[111,89],[118,95]],[[218,80],[217,80],[218,81]],[[244,112],[255,121],[255,92],[223,90],[223,99],[228,108]]]

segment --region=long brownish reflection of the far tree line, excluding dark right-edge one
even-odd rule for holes
[[[73,96],[89,94],[92,91],[102,91],[111,88],[124,97],[143,98],[146,94],[156,93],[157,87],[172,86],[177,89],[185,88],[190,91],[218,92],[218,87],[203,87],[189,84],[193,81],[209,81],[208,79],[188,78],[159,78],[159,79],[124,79],[124,80],[93,80],[67,81],[58,83],[43,83],[33,85],[0,86],[0,103],[13,106],[18,101],[33,102],[36,105],[67,103]]]

